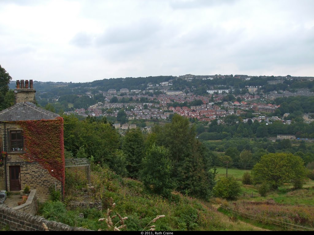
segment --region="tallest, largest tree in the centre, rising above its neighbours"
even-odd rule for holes
[[[214,186],[211,157],[196,138],[195,127],[187,118],[174,114],[171,123],[153,128],[154,142],[169,149],[176,190],[190,196],[208,198]]]

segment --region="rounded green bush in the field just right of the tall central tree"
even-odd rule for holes
[[[221,177],[213,191],[216,197],[236,199],[241,194],[241,185],[233,176]]]

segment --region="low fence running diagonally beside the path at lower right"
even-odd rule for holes
[[[241,217],[245,217],[245,218],[252,219],[252,220],[257,220],[257,221],[260,221],[262,223],[278,225],[280,227],[292,229],[295,231],[314,231],[314,228],[304,227],[304,226],[291,224],[291,223],[287,223],[287,222],[283,222],[283,221],[279,221],[279,220],[275,220],[275,219],[271,219],[271,218],[266,218],[266,217],[262,217],[262,216],[251,215],[248,213],[236,211],[236,210],[231,209],[231,208],[224,206],[222,204],[220,204],[220,207],[223,208],[224,210],[228,211],[228,212],[240,215]]]

